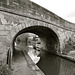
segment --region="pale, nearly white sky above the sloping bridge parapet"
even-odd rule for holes
[[[75,23],[75,0],[30,0],[61,18]]]

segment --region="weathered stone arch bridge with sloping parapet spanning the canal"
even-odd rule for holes
[[[15,39],[23,33],[37,34],[49,52],[67,54],[75,48],[75,24],[29,0],[1,0],[0,61],[6,61],[9,49],[13,55]],[[25,37],[20,38],[23,50]]]

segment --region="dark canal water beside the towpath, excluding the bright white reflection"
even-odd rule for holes
[[[75,75],[75,63],[55,54],[44,52],[37,66],[45,75]]]

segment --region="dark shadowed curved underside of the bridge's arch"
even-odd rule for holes
[[[20,30],[13,38],[12,49],[14,50],[15,39],[23,33],[34,33],[41,39],[41,45],[43,50],[47,50],[52,53],[60,52],[60,42],[58,35],[50,28],[45,26],[30,26]]]

